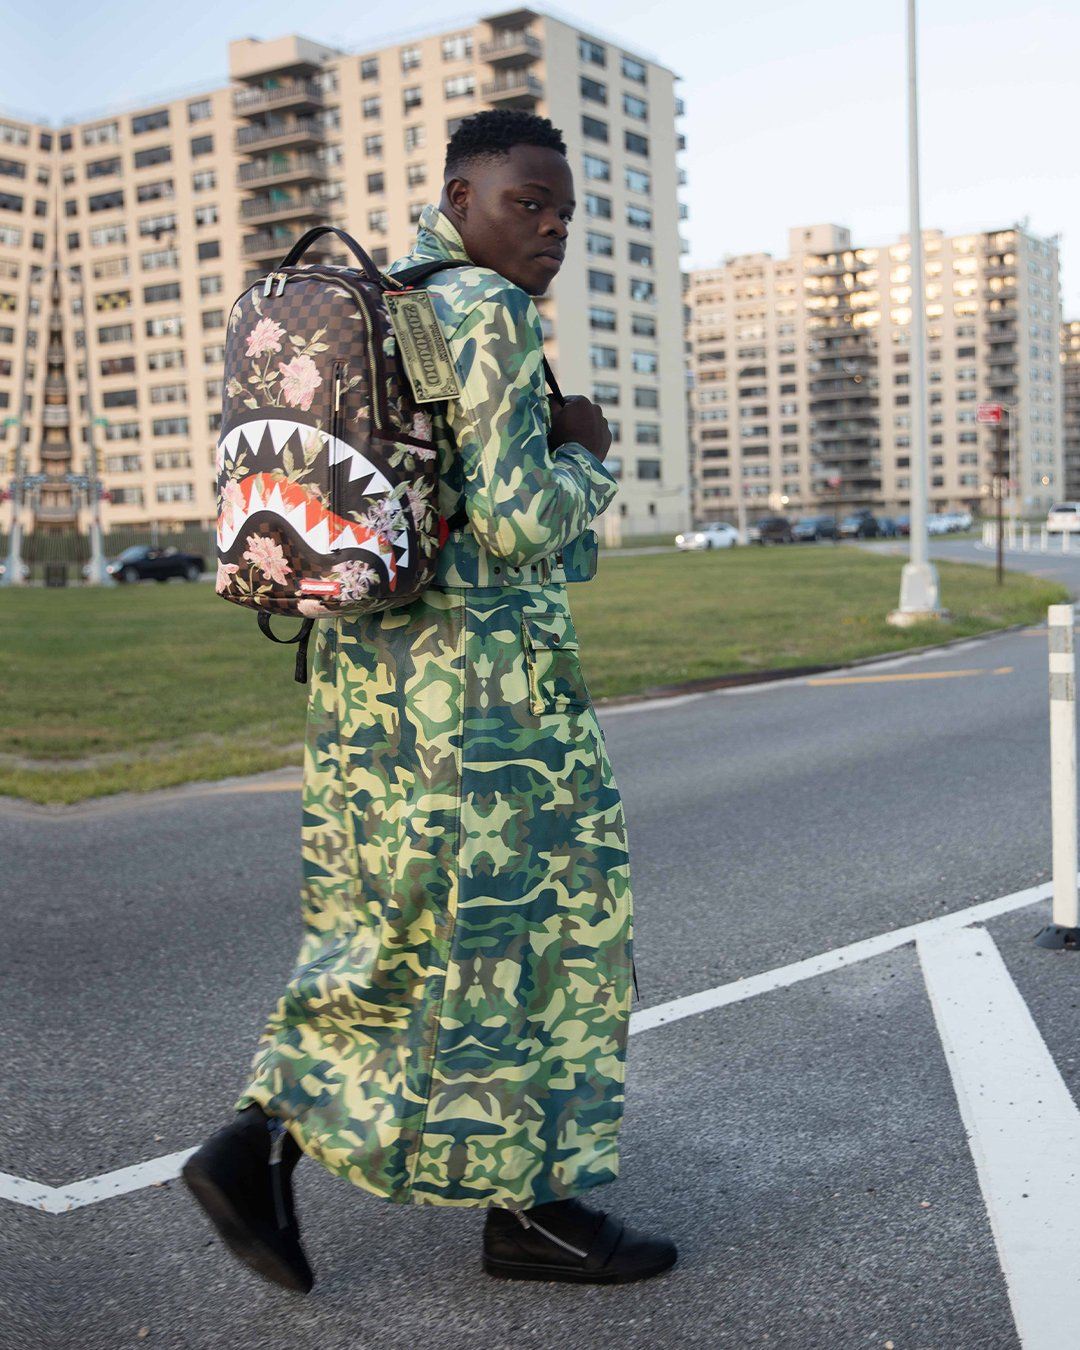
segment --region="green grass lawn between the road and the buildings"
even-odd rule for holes
[[[1038,622],[1068,599],[1035,576],[999,589],[992,568],[938,563],[952,622],[894,629],[900,567],[825,545],[601,556],[595,580],[570,587],[593,698],[840,664]],[[76,802],[298,764],[293,655],[205,583],[0,591],[0,795]]]

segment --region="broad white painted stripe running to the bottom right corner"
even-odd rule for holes
[[[1080,1111],[986,929],[917,950],[1025,1350],[1076,1345]]]

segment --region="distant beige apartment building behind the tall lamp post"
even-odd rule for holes
[[[1023,510],[1062,490],[1056,239],[1017,224],[923,231],[930,510],[979,509],[994,432],[1014,420]],[[788,255],[748,254],[688,275],[695,522],[765,512],[905,512],[911,490],[911,267],[907,235],[788,231]]]

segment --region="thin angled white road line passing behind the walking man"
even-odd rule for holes
[[[838,946],[832,952],[822,952],[805,961],[782,965],[775,971],[752,975],[744,980],[732,980],[729,984],[690,994],[686,998],[671,999],[668,1003],[657,1003],[655,1007],[643,1008],[630,1015],[630,1035],[679,1022],[686,1017],[695,1017],[698,1013],[726,1007],[729,1003],[741,1003],[759,994],[771,994],[774,990],[798,984],[801,980],[810,980],[815,975],[826,975],[829,971],[842,969],[857,961],[867,961],[884,952],[894,952],[898,946],[903,946],[922,934],[953,932],[969,923],[1011,914],[1013,910],[1022,910],[1048,899],[1052,891],[1052,883],[1045,882],[1042,886],[1033,886],[1025,891],[1014,891],[1013,895],[1000,895],[994,900],[969,905],[952,914],[941,914],[933,919],[909,923],[906,927],[891,929],[888,933],[879,933],[876,937],[850,942],[848,946]],[[134,1166],[105,1172],[101,1176],[74,1181],[66,1187],[49,1187],[0,1173],[0,1200],[27,1204],[35,1210],[45,1210],[46,1214],[66,1214],[86,1204],[96,1204],[99,1200],[108,1200],[112,1196],[128,1195],[148,1185],[171,1181],[180,1176],[181,1166],[193,1152],[194,1149],[186,1149],[182,1153],[170,1153],[162,1158],[136,1162]]]

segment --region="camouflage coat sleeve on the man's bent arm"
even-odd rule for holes
[[[608,506],[618,481],[576,441],[548,450],[536,306],[508,282],[473,305],[450,351],[462,394],[447,404],[447,427],[473,532],[512,567],[558,552]]]

